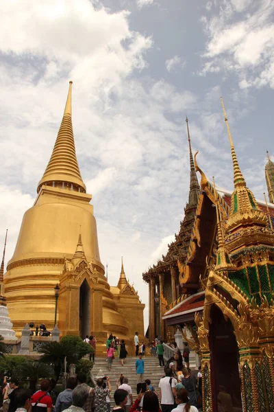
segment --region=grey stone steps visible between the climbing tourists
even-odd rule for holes
[[[111,371],[108,370],[108,362],[105,361],[105,358],[95,358],[95,365],[93,365],[93,368],[92,368],[93,376],[96,377],[99,372],[99,369],[101,369],[103,372],[103,375],[109,376],[110,378],[110,385],[112,386],[111,398],[110,398],[111,407],[114,407],[113,394],[114,394],[114,391],[116,390],[116,380],[119,378],[121,374],[123,374],[123,376],[128,378],[129,385],[132,387],[132,396],[135,400],[137,396],[136,369],[135,369],[135,363],[136,363],[137,358],[138,358],[137,356],[127,356],[124,366],[121,365],[121,361],[119,358],[115,358],[112,363]],[[155,387],[155,390],[158,392],[159,381],[164,376],[164,367],[158,367],[159,366],[158,357],[145,356],[143,359],[145,361],[144,380],[150,379],[151,385],[153,385],[153,387]],[[190,359],[190,367],[192,369],[195,369],[195,360],[191,362],[191,359]],[[195,374],[195,371],[193,371],[192,373]]]

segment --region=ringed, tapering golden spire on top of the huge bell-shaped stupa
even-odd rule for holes
[[[42,179],[38,183],[37,192],[39,192],[40,187],[45,184],[51,186],[59,185],[60,187],[69,190],[73,187],[73,190],[86,192],[86,186],[82,180],[77,163],[73,137],[73,124],[71,122],[72,83],[73,82],[69,82],[69,94],[66,99],[62,123],[49,163]]]

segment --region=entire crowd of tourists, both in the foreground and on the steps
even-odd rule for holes
[[[94,348],[90,360],[95,363],[96,338],[86,336],[84,339]],[[115,407],[112,412],[197,412],[201,407],[201,371],[197,378],[189,368],[189,348],[184,345],[183,354],[173,345],[174,354],[164,363],[164,345],[155,339],[152,345],[153,355],[158,356],[159,366],[164,367],[164,376],[159,382],[159,393],[151,385],[151,380],[145,380],[145,344],[139,342],[138,332],[134,336],[136,347],[136,385],[137,396],[134,400],[129,379],[121,374],[116,382],[113,393]],[[107,342],[108,369],[112,367],[115,356],[124,365],[127,357],[125,341],[110,334]],[[155,348],[155,350],[154,350]],[[32,393],[29,389],[19,386],[16,377],[7,382],[3,379],[3,412],[110,412],[112,387],[108,376],[97,376],[95,387],[86,383],[87,375],[77,374],[77,377],[66,381],[66,389],[59,393],[53,406],[51,398],[51,380],[42,380],[40,390]]]

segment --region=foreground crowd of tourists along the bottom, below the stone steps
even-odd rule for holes
[[[141,368],[139,369],[139,367]],[[144,360],[142,353],[136,361],[138,395],[134,400],[132,387],[126,376],[119,376],[113,397],[113,412],[197,412],[198,400],[195,376],[187,369],[182,375],[176,375],[174,369],[166,368],[165,376],[160,379],[159,393],[151,385],[151,380],[144,380]],[[191,384],[190,384],[191,382]],[[3,412],[110,412],[112,387],[108,376],[97,378],[96,387],[86,384],[86,374],[79,373],[76,378],[66,381],[66,389],[59,393],[55,405],[51,398],[51,380],[42,380],[40,390],[31,393],[19,386],[15,377],[5,382],[3,388]],[[197,405],[198,406],[198,405]]]

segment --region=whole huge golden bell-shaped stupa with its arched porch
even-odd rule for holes
[[[105,277],[92,196],[86,193],[75,154],[71,87],[72,82],[49,164],[38,183],[38,196],[23,216],[8,262],[4,279],[8,310],[17,335],[31,321],[45,323],[51,330],[58,283],[56,323],[62,335],[95,334],[98,350],[103,352],[112,332],[133,349],[136,330],[144,334],[145,305],[127,282],[123,262],[116,287]]]

